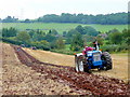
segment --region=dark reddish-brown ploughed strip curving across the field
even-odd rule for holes
[[[30,66],[37,72],[48,73],[47,79],[66,83],[80,94],[130,95],[129,85],[121,80],[94,75],[92,73],[76,72],[73,67],[41,63],[27,54],[22,47],[12,46],[22,64]],[[82,93],[82,89],[86,92]]]

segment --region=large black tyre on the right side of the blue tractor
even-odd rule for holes
[[[104,60],[104,70],[113,69],[112,57],[108,52],[102,53],[102,60]]]

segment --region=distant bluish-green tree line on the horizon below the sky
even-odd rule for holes
[[[2,23],[78,23],[78,24],[101,24],[101,25],[123,25],[128,24],[128,13],[112,13],[112,14],[99,14],[99,15],[88,15],[88,14],[69,14],[62,13],[47,14],[37,19],[26,18],[25,20],[18,20],[18,18],[8,16],[4,19],[0,19]]]

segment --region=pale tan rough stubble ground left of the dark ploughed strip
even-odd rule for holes
[[[66,84],[47,79],[47,73],[39,73],[23,65],[9,44],[2,46],[2,94],[3,95],[76,95]],[[1,85],[1,83],[0,83]]]

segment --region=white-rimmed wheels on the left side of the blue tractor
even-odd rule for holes
[[[89,68],[87,64],[87,59],[83,55],[80,55],[78,57],[75,57],[75,64],[76,64],[76,71],[81,71],[81,72],[89,72]]]

